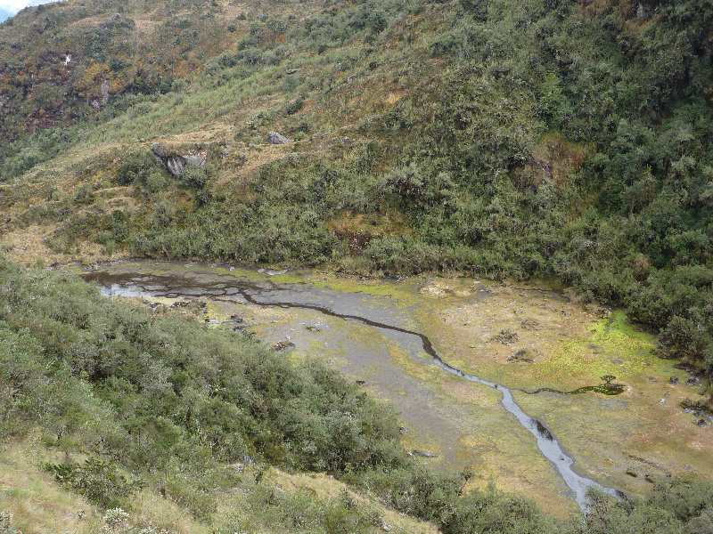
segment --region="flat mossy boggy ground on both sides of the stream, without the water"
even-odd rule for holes
[[[152,262],[112,269],[191,276],[199,282],[218,276],[299,283],[287,286],[291,293],[283,296],[422,332],[447,362],[508,387],[570,391],[601,384],[605,374],[617,376],[614,382],[625,386],[619,396],[513,394],[522,409],[553,431],[580,473],[605,485],[645,495],[655,476],[713,476],[708,461],[713,427],[695,425],[697,418],[679,407],[686,397],[695,400],[700,388],[685,384],[688,375],[673,368],[674,361],[655,356],[653,337],[628,325],[620,312],[586,309],[537,287],[473,279],[356,279]],[[266,343],[294,344],[286,354],[322,358],[373,395],[393,402],[402,414],[406,447],[417,455],[438,455],[420,461],[441,469],[471,465],[477,473],[474,484],[495,481],[500,488],[536,498],[554,514],[576,509],[534,437],[500,405],[500,393],[432,365],[413,336],[316,311],[200,298],[207,303],[201,320],[237,314]],[[679,384],[668,384],[670,376]]]

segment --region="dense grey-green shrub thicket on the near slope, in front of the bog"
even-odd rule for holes
[[[131,495],[148,487],[210,522],[239,476],[226,464],[250,457],[336,474],[445,533],[711,531],[704,481],[662,479],[645,503],[594,495],[592,513],[568,522],[495,489],[463,493],[470,470],[438,475],[411,463],[395,414],[315,360],[295,363],[252,336],[155,315],[2,257],[0,401],[0,437],[39,428],[47,447],[84,455],[47,469],[102,507],[131,509]],[[254,491],[266,514],[282,507],[273,520],[289,531],[373,524],[348,496],[316,508]],[[322,519],[307,521],[314,514]]]

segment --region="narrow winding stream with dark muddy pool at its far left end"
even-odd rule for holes
[[[570,497],[574,498],[583,510],[587,507],[586,491],[592,486],[617,497],[623,495],[620,491],[602,487],[598,482],[577,473],[574,468],[575,460],[562,448],[560,441],[542,421],[530,417],[520,409],[510,388],[464,373],[448,364],[428,336],[399,326],[399,323],[404,324],[406,321],[399,317],[398,313],[389,311],[388,307],[381,306],[378,302],[365,305],[363,294],[340,292],[307,283],[276,283],[269,279],[255,281],[234,273],[220,273],[205,266],[189,265],[176,270],[176,264],[173,264],[173,271],[156,269],[155,273],[151,272],[152,266],[153,263],[149,262],[126,263],[83,271],[81,276],[98,285],[102,294],[107,296],[187,300],[201,298],[215,303],[299,309],[361,323],[391,337],[402,346],[410,347],[407,348],[409,357],[421,365],[436,365],[444,372],[501,392],[502,407],[512,414],[512,423],[521,425],[535,436],[537,449],[555,467],[569,488]],[[427,357],[423,356],[424,352]],[[349,354],[346,357],[349,358]]]

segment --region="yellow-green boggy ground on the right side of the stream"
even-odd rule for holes
[[[617,376],[614,382],[626,386],[619,396],[513,392],[588,476],[643,495],[656,476],[713,474],[713,427],[696,425],[701,417],[680,408],[685,399],[702,399],[700,384],[686,384],[690,375],[658,357],[654,337],[628,324],[622,312],[587,309],[534,287],[470,279],[434,281],[420,293],[430,301],[418,308],[423,331],[464,371],[530,392],[571,391]],[[479,293],[488,298],[473,302]],[[678,384],[670,384],[672,376]]]

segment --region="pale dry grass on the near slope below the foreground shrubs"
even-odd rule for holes
[[[49,532],[97,532],[111,527],[104,521],[105,511],[87,502],[76,493],[62,489],[51,474],[42,468],[45,462],[60,461],[61,455],[46,449],[37,437],[22,441],[11,441],[0,450],[0,510],[13,514],[12,525],[25,534],[46,534]],[[375,514],[393,531],[414,534],[438,532],[435,525],[420,522],[404,514],[397,514],[382,506],[366,494],[349,488],[332,476],[321,473],[286,473],[271,468],[259,483],[254,481],[254,473],[248,467],[244,480],[233,490],[226,492],[217,502],[217,514],[213,523],[217,531],[227,531],[238,524],[242,529],[260,532],[282,532],[283,514],[279,498],[272,503],[250,501],[250,492],[270,492],[284,496],[294,496],[315,507],[324,509],[343,499],[345,492],[358,503]],[[257,506],[259,504],[259,506]],[[324,514],[324,512],[323,512]],[[316,517],[314,517],[316,516]],[[240,517],[236,523],[235,518]],[[318,522],[319,513],[313,512],[311,521]],[[307,519],[307,518],[306,518]],[[153,490],[142,490],[132,498],[130,524],[151,526],[155,530],[169,532],[214,532],[209,525],[195,519],[186,509]],[[120,529],[112,530],[120,531]],[[373,532],[382,531],[373,528]]]

